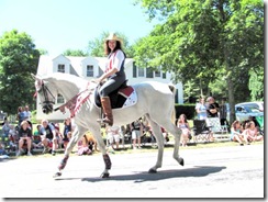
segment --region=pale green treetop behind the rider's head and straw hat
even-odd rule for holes
[[[88,55],[94,56],[94,57],[105,57],[104,55],[104,41],[109,36],[109,32],[102,32],[100,37],[94,38],[93,41],[89,41],[88,43]],[[115,33],[123,42],[123,50],[126,54],[127,58],[132,58],[133,55],[133,48],[129,43],[127,37],[123,33]]]

